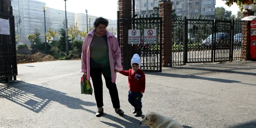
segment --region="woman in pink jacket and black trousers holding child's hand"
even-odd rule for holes
[[[98,107],[97,117],[103,114],[103,83],[104,76],[106,88],[109,89],[111,101],[115,112],[123,115],[120,109],[118,91],[116,87],[116,72],[122,71],[121,51],[117,38],[106,27],[107,19],[99,17],[95,19],[95,29],[88,33],[82,45],[82,68],[87,79],[92,78],[94,95]]]

